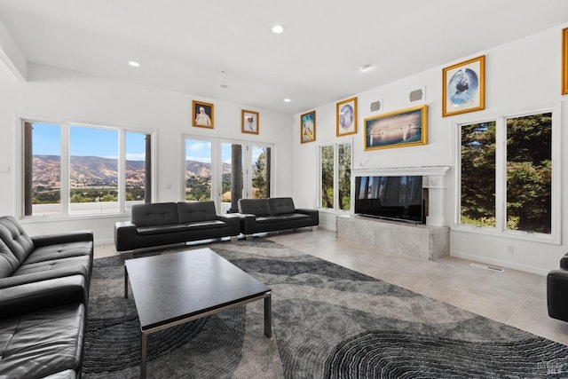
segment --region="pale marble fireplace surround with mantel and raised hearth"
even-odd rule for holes
[[[361,176],[422,175],[428,189],[426,225],[380,220],[358,215],[335,217],[335,236],[339,240],[367,244],[387,252],[434,261],[450,253],[450,228],[446,222],[446,174],[449,166],[420,166],[352,170],[351,186]],[[352,193],[355,193],[354,191]]]

